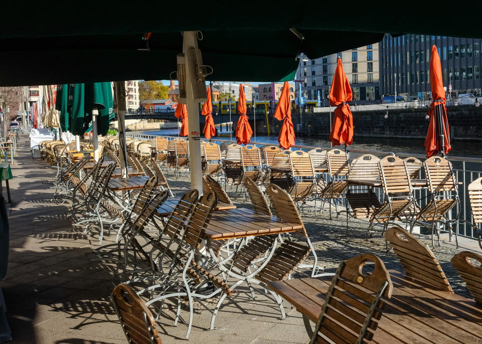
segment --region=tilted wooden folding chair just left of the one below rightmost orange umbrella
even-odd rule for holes
[[[378,162],[378,166],[385,201],[370,216],[367,238],[375,222],[383,224],[383,232],[390,223],[400,227],[394,221],[402,215],[407,216],[404,214],[405,210],[414,206],[412,184],[405,161],[396,156],[387,156]]]

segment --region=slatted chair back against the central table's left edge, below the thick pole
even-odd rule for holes
[[[211,220],[216,203],[216,194],[214,192],[201,196],[201,199],[196,205],[196,209],[187,222],[184,236],[182,238],[182,241],[187,243],[191,248],[200,248],[204,231]]]

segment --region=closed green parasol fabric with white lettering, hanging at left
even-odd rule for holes
[[[92,128],[92,110],[97,108],[97,129],[99,135],[109,130],[110,116],[113,115],[113,96],[110,82],[75,83],[68,85],[68,111],[71,117],[71,132],[83,135]],[[89,130],[90,128],[90,130]]]

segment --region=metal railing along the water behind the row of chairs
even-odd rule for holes
[[[178,136],[166,136],[166,135],[145,135],[145,134],[138,134],[138,133],[127,133],[129,137],[133,137],[139,140],[152,140],[158,136],[166,137],[169,139],[178,138]],[[209,142],[215,142],[221,144],[225,143],[236,143],[235,140],[229,139],[221,139],[221,138],[212,138],[211,140],[206,140]],[[268,142],[250,142],[250,144],[255,146],[273,146],[276,144],[268,143]],[[330,150],[333,147],[320,147],[320,146],[305,146],[305,145],[294,145],[293,148],[301,149],[301,150],[310,150],[313,148],[321,148]],[[343,148],[341,148],[343,150]],[[349,153],[350,159],[359,156],[361,154],[372,154],[378,157],[384,157],[387,155],[398,156],[401,158],[405,157],[414,157],[419,160],[425,160],[426,156],[423,154],[412,154],[407,152],[390,152],[390,151],[380,151],[380,150],[369,150],[369,149],[350,149],[349,147],[346,149]],[[458,196],[460,199],[460,203],[457,204],[450,213],[448,214],[449,219],[456,219],[457,214],[459,215],[459,219],[463,220],[460,222],[455,222],[455,229],[457,234],[460,236],[468,237],[475,239],[477,238],[477,229],[472,228],[469,223],[473,223],[472,214],[470,210],[470,204],[468,200],[467,194],[467,186],[474,181],[475,179],[479,178],[482,175],[482,158],[473,158],[473,157],[463,157],[463,156],[447,156],[447,160],[451,161],[453,164],[453,170],[455,173],[456,181],[461,182],[461,185],[458,187]],[[326,178],[327,176],[325,176]],[[423,167],[419,172],[419,178],[425,179],[425,172]],[[383,201],[383,192],[382,190],[376,191],[379,200]],[[420,209],[427,204],[429,201],[429,193],[427,188],[415,188],[414,189],[414,198],[417,201],[417,206]]]

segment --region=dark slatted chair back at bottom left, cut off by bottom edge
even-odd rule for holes
[[[127,284],[117,285],[111,299],[129,343],[162,343],[156,320],[131,287]]]

